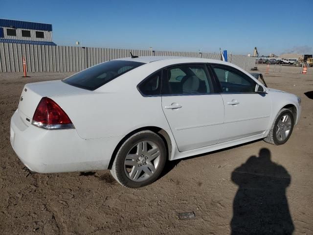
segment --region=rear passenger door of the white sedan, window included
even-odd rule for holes
[[[212,76],[212,74],[211,74]],[[224,103],[204,64],[182,64],[163,71],[162,109],[179,151],[219,141]]]

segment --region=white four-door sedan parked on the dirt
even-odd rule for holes
[[[110,169],[121,185],[138,188],[167,160],[258,139],[285,143],[300,103],[227,62],[123,58],[26,84],[10,140],[31,171]]]

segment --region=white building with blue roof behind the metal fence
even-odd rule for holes
[[[0,19],[0,43],[56,46],[52,24]]]

